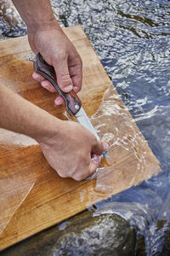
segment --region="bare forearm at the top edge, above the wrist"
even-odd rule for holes
[[[59,24],[54,18],[53,10],[49,0],[13,0],[14,6],[20,16],[26,22],[28,32],[47,29],[52,26],[56,28]]]

